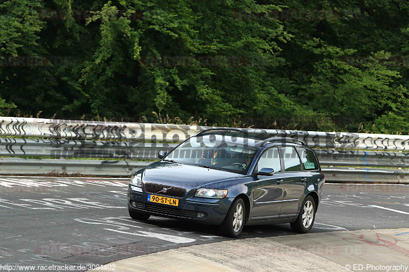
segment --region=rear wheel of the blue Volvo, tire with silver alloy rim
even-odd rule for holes
[[[315,201],[311,195],[307,195],[296,221],[290,223],[291,229],[294,232],[308,233],[311,230],[312,225],[314,225],[315,211]]]

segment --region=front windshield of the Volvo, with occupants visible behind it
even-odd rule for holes
[[[228,135],[192,137],[164,160],[246,174],[257,153],[258,140]]]

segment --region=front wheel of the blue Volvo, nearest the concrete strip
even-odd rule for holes
[[[236,238],[240,235],[244,227],[245,209],[244,201],[241,198],[233,201],[220,226],[224,236]]]

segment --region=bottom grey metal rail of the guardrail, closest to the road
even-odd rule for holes
[[[147,161],[101,161],[0,158],[0,175],[90,175],[131,176],[146,167]],[[409,170],[322,167],[327,182],[368,182],[409,184]]]

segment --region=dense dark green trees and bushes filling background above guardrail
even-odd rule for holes
[[[392,0],[5,0],[0,114],[407,134],[408,12]]]

